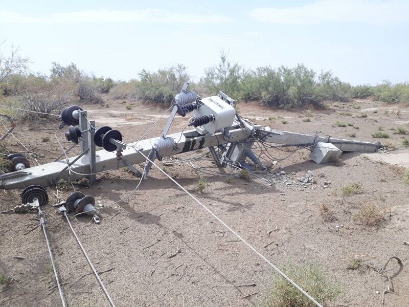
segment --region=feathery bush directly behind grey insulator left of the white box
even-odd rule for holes
[[[138,98],[142,102],[159,104],[170,104],[183,84],[190,79],[187,67],[182,64],[157,72],[142,70],[139,77],[141,81],[137,87]]]

